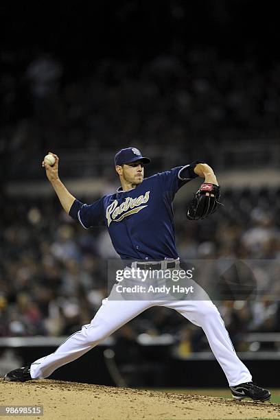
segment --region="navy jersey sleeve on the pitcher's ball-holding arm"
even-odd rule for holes
[[[91,205],[83,204],[78,200],[73,203],[69,215],[79,220],[85,229],[93,226],[102,226],[104,222],[104,197],[93,202]]]

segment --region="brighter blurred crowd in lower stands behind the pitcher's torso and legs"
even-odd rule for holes
[[[280,190],[227,190],[222,202],[202,222],[187,221],[175,202],[176,242],[181,259],[255,261],[253,277],[242,271],[227,300],[211,296],[237,350],[250,350],[244,334],[280,331]],[[89,323],[108,295],[106,261],[117,257],[106,229],[83,229],[57,198],[10,198],[0,224],[0,336],[70,335]],[[230,285],[224,279],[219,288]],[[201,329],[166,308],[144,312],[115,337],[127,344],[143,333],[172,334],[182,357],[209,349]]]

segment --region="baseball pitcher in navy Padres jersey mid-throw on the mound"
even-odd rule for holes
[[[47,178],[56,191],[63,209],[84,229],[104,225],[121,260],[141,270],[174,270],[180,267],[175,245],[172,201],[178,189],[191,179],[204,178],[187,218],[199,220],[216,211],[220,205],[220,187],[211,167],[195,161],[166,172],[144,178],[144,166],[150,159],[137,148],[125,148],[115,155],[115,170],[121,187],[91,205],[73,197],[58,176],[58,156],[54,165],[43,161]],[[132,262],[131,262],[132,261]],[[116,286],[113,292],[116,292]],[[206,292],[205,292],[206,295]],[[215,358],[220,363],[235,399],[250,397],[270,399],[270,392],[252,382],[246,366],[237,357],[217,307],[207,299],[104,299],[102,306],[80,331],[67,338],[54,353],[35,360],[30,366],[5,375],[6,381],[25,382],[45,378],[64,364],[93,349],[132,318],[152,306],[170,307],[195,325],[202,327]]]

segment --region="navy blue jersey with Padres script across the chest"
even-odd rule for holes
[[[106,226],[121,259],[176,259],[172,201],[178,189],[196,176],[189,165],[175,167],[144,178],[134,189],[120,187],[92,205],[75,200],[69,215],[78,217],[85,229]]]

